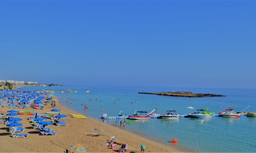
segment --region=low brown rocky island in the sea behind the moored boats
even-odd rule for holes
[[[209,94],[209,93],[192,93],[192,92],[139,92],[139,94],[156,94],[164,96],[175,96],[175,97],[225,97],[225,95],[220,94]]]

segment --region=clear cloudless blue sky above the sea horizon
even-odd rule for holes
[[[256,1],[0,1],[0,80],[256,88]]]

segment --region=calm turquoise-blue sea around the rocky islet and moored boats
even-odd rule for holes
[[[80,114],[101,120],[103,114],[118,116],[120,111],[133,115],[135,111],[162,114],[172,109],[179,114],[209,108],[210,112],[221,112],[231,106],[236,112],[247,106],[256,112],[256,89],[174,88],[174,87],[89,87],[51,86],[22,87],[20,90],[78,91],[76,93],[53,93],[62,99],[61,106]],[[85,92],[89,90],[90,92]],[[138,92],[190,91],[193,93],[222,94],[225,97],[173,97]],[[71,104],[72,101],[72,104]],[[84,109],[84,106],[88,109]],[[187,107],[194,109],[188,109]],[[103,111],[101,111],[101,108]],[[120,120],[118,120],[119,122]],[[169,142],[176,138],[178,145],[196,152],[256,152],[256,117],[240,118],[179,118],[129,120],[125,130]],[[105,120],[115,125],[116,120]],[[122,127],[123,128],[123,127]],[[169,143],[170,146],[174,145]]]

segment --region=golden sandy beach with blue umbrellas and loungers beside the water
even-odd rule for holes
[[[61,114],[68,115],[69,113],[78,114],[65,107],[56,105],[57,109],[61,110]],[[35,110],[35,112],[43,114],[44,112],[51,112],[51,105],[44,105],[44,110]],[[18,111],[33,111],[33,109],[10,109],[7,107],[0,108],[5,114],[8,110]],[[140,152],[140,145],[146,146],[146,152],[191,152],[185,148],[181,148],[178,145],[174,145],[168,142],[157,142],[156,140],[150,140],[143,136],[138,136],[134,133],[120,129],[115,125],[109,125],[104,122],[92,118],[80,119],[73,117],[66,117],[68,126],[48,125],[52,127],[52,130],[57,132],[55,136],[42,136],[38,135],[37,131],[33,129],[32,123],[27,119],[28,117],[34,117],[33,115],[18,115],[23,120],[20,121],[25,127],[25,131],[19,134],[29,134],[27,138],[12,138],[11,133],[7,132],[5,124],[0,126],[0,152],[63,152],[70,148],[71,144],[82,144],[86,146],[87,152],[117,152],[119,145],[115,146],[112,150],[108,145],[105,145],[112,136],[115,136],[117,142],[126,143],[128,145],[128,152]],[[5,118],[2,117],[1,120]],[[50,120],[50,119],[48,119]],[[96,132],[95,127],[102,127],[107,132]],[[98,137],[88,136],[87,134],[100,134]]]

